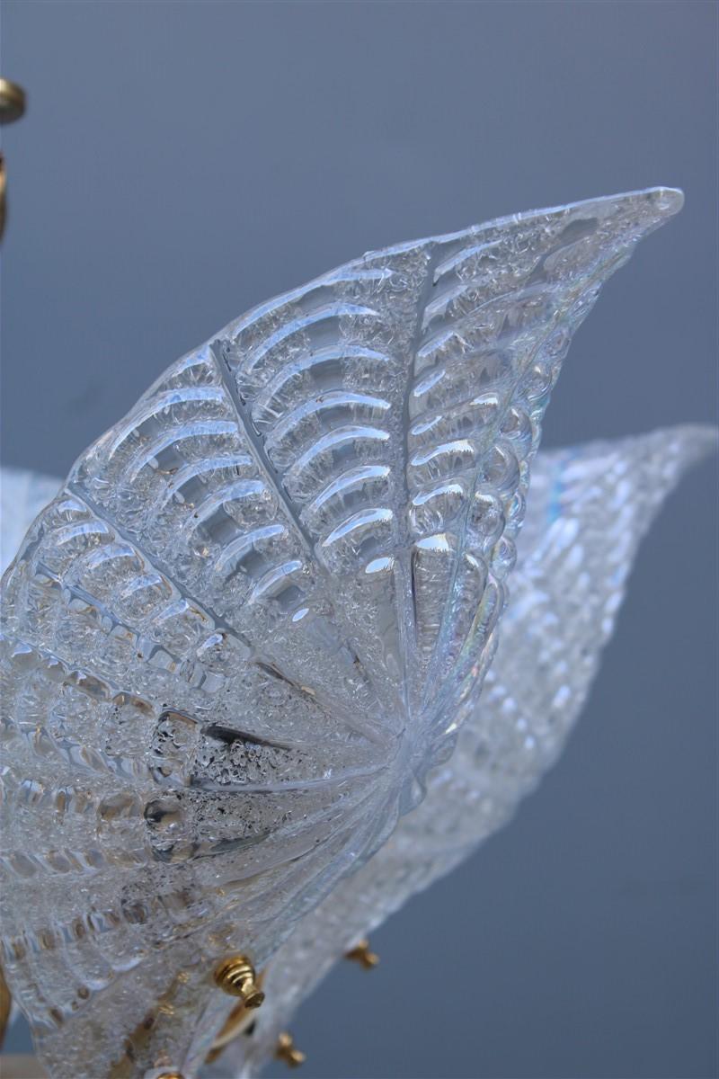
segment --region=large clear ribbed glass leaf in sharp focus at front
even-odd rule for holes
[[[3,578],[3,967],[57,1077],[204,1058],[419,801],[496,644],[529,462],[654,189],[367,255],[86,451]]]

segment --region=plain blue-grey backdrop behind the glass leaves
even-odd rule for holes
[[[5,462],[65,473],[178,355],[368,248],[655,183],[687,206],[605,289],[545,443],[711,420],[716,23],[5,2]],[[714,491],[705,465],[667,505],[539,793],[303,1008],[306,1079],[716,1075]]]

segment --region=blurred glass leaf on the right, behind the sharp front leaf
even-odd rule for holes
[[[359,939],[502,825],[561,753],[611,636],[639,541],[717,433],[675,427],[541,452],[511,599],[482,699],[427,796],[271,958],[251,1036],[212,1075],[253,1076],[294,1009]],[[419,988],[417,992],[421,992]]]

